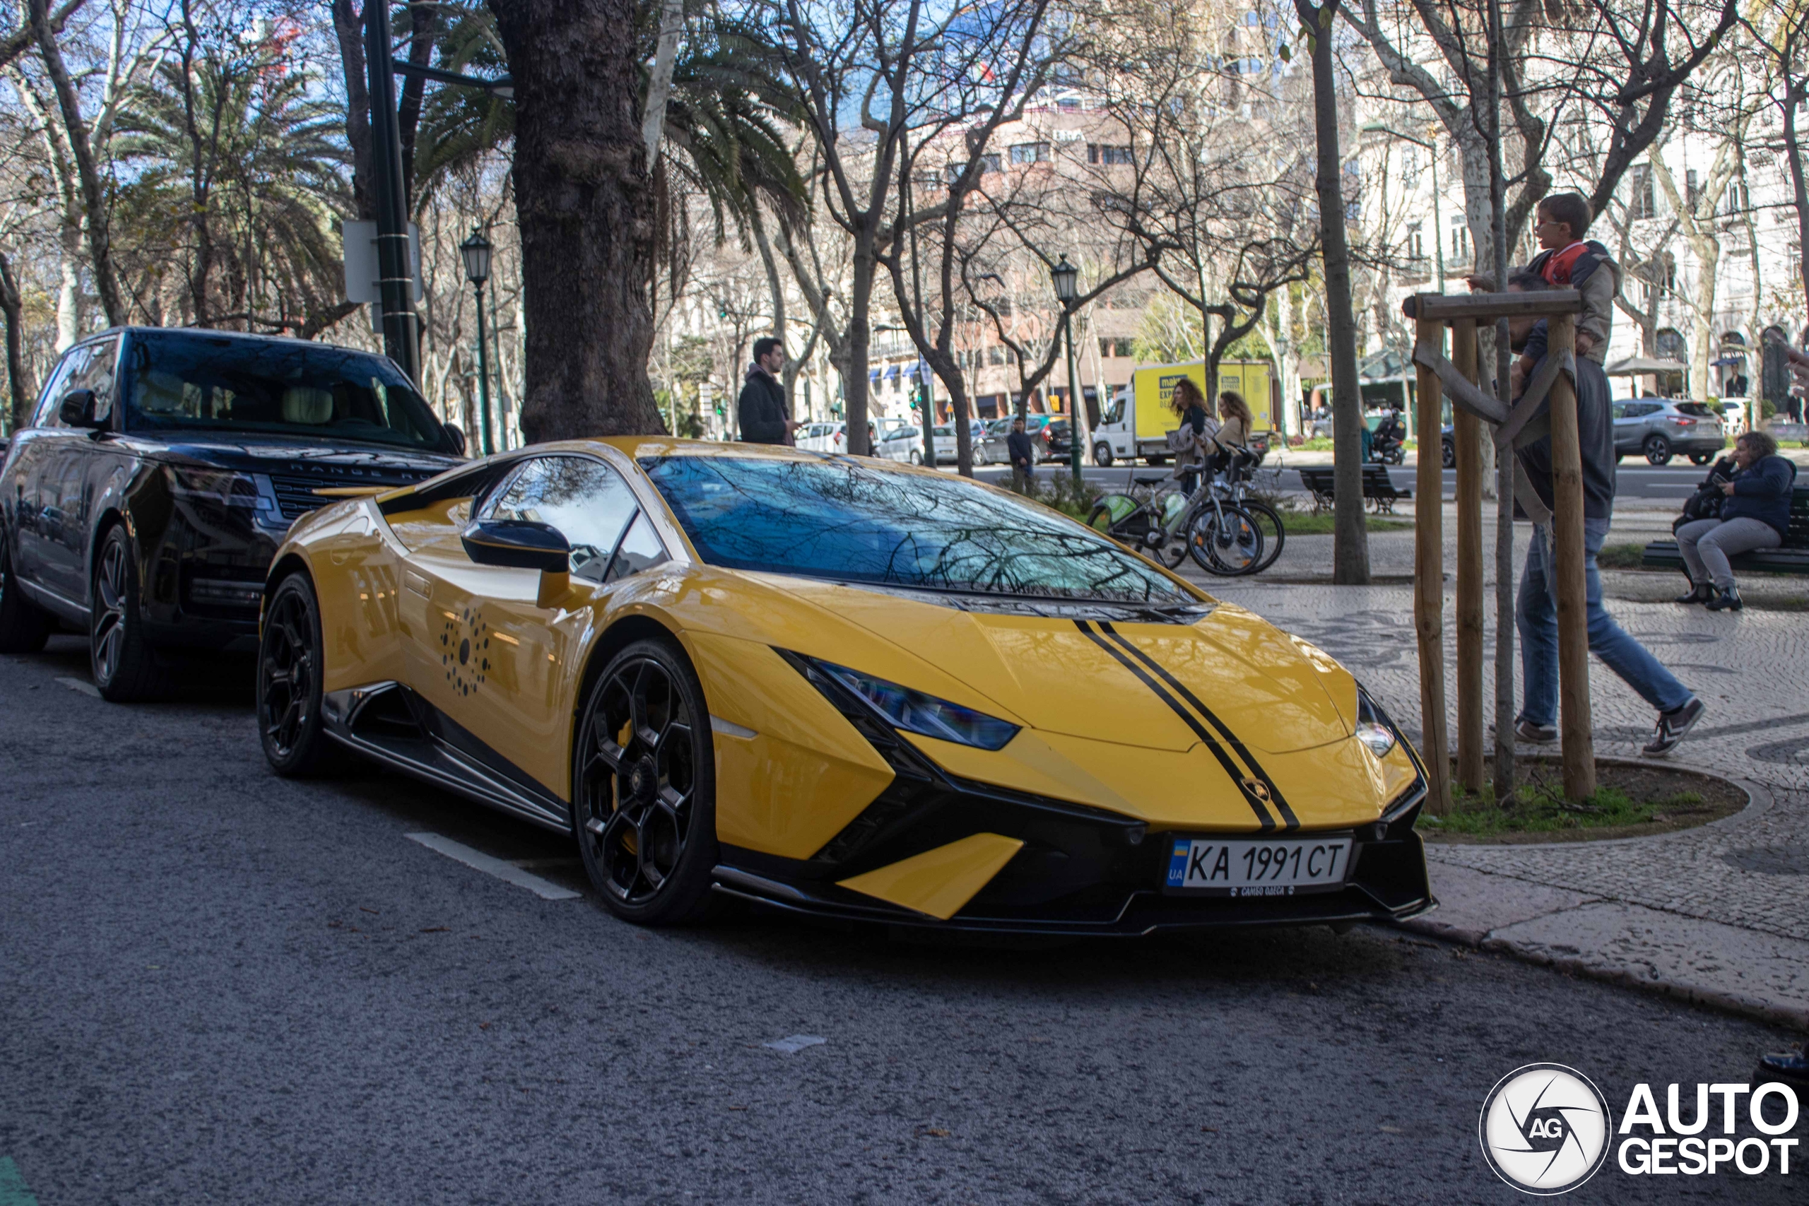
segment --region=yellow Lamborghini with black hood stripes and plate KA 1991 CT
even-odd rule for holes
[[[1064,935],[1431,906],[1422,768],[1337,662],[933,470],[494,456],[300,519],[260,640],[277,774],[355,750],[570,832],[635,922],[713,891]]]

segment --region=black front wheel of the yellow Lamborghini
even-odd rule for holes
[[[704,689],[684,653],[637,640],[592,687],[572,767],[572,832],[622,920],[704,913],[716,864],[716,774]]]

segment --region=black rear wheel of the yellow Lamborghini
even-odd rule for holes
[[[257,644],[257,740],[286,779],[342,768],[349,758],[320,720],[320,604],[308,575],[277,584]]]

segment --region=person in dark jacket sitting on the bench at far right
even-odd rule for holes
[[[1744,606],[1728,559],[1755,548],[1776,548],[1791,530],[1796,463],[1778,456],[1771,432],[1746,432],[1735,439],[1733,463],[1733,477],[1720,483],[1726,495],[1720,517],[1693,519],[1677,528],[1677,551],[1690,570],[1690,593],[1679,595],[1677,602],[1699,602],[1710,611],[1740,611]]]

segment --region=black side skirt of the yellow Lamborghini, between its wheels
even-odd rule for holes
[[[496,750],[481,747],[470,732],[459,729],[461,745],[479,745],[488,754],[485,761],[494,767],[432,732],[431,727],[441,729],[452,725],[452,720],[402,683],[329,691],[322,698],[320,714],[327,736],[365,758],[555,834],[572,828],[563,801],[501,772],[497,767],[508,763]],[[429,723],[421,723],[423,720]]]

